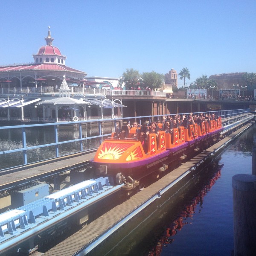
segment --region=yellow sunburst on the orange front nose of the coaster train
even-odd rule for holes
[[[132,144],[104,143],[98,155],[99,159],[119,159]]]

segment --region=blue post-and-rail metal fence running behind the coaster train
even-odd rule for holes
[[[227,111],[211,111],[211,112],[198,112],[198,113],[215,113],[216,116],[221,116],[222,119],[224,118],[229,118],[229,117],[233,117],[233,116],[238,116],[244,113],[250,113],[250,109],[236,109],[236,110],[227,110]],[[179,113],[180,115],[189,115],[190,113]],[[173,114],[171,114],[173,115]],[[160,119],[161,117],[163,117],[165,115],[157,115],[157,116],[134,116],[134,117],[126,117],[126,118],[115,118],[115,119],[98,119],[98,120],[87,120],[87,121],[78,121],[78,122],[58,122],[58,123],[43,123],[43,124],[33,124],[33,125],[15,125],[15,126],[2,126],[0,127],[0,131],[3,129],[21,129],[22,131],[22,148],[16,148],[16,149],[12,149],[12,150],[6,150],[3,151],[3,149],[0,148],[0,155],[1,154],[10,154],[13,152],[23,152],[23,164],[26,165],[28,164],[27,161],[27,151],[29,150],[33,150],[36,148],[43,148],[43,147],[49,147],[49,146],[55,146],[55,157],[59,157],[59,145],[61,144],[69,144],[69,143],[74,143],[74,142],[79,142],[80,143],[80,152],[82,151],[86,151],[83,148],[83,141],[85,140],[91,140],[91,139],[95,139],[95,138],[99,138],[99,143],[102,143],[102,140],[104,139],[104,137],[109,137],[111,134],[102,134],[102,123],[106,123],[106,122],[114,122],[114,127],[116,127],[116,123],[119,122],[120,120],[127,120],[128,122],[130,122],[130,120],[139,120],[139,123],[142,124],[143,120],[149,120],[149,122],[151,122],[151,120],[154,119]],[[99,135],[98,136],[93,136],[93,137],[82,137],[82,125],[83,124],[93,124],[93,123],[97,123],[99,126]],[[79,139],[74,139],[74,140],[67,140],[67,141],[58,141],[58,129],[60,127],[63,127],[64,125],[79,125]],[[42,127],[42,126],[53,126],[54,127],[54,131],[55,131],[55,142],[54,143],[48,143],[48,144],[44,144],[44,145],[35,145],[35,146],[26,146],[26,130],[25,128],[30,128],[30,127]],[[93,148],[90,148],[93,149]],[[53,157],[53,158],[55,158]],[[13,166],[13,167],[17,167],[17,166]]]

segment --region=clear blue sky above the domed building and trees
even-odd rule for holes
[[[50,26],[66,65],[87,76],[187,67],[190,84],[256,72],[255,0],[12,0],[1,10],[0,65],[32,62]]]

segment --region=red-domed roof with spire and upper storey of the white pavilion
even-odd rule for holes
[[[47,44],[32,55],[34,62],[0,66],[0,88],[15,87],[21,91],[22,88],[42,84],[60,86],[64,75],[70,81],[84,79],[87,73],[66,66],[67,57],[52,45],[54,38],[51,37],[50,27],[48,28],[48,35],[44,38]]]

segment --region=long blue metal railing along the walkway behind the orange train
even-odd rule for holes
[[[250,109],[238,109],[238,110],[228,110],[228,111],[210,111],[210,112],[198,112],[198,113],[194,113],[194,114],[200,114],[200,113],[215,113],[215,116],[221,116],[222,119],[225,118],[230,118],[233,116],[239,116],[241,114],[244,113],[250,113]],[[190,113],[179,113],[180,116],[182,115],[189,115]],[[173,115],[173,114],[171,114]],[[15,126],[2,126],[0,127],[0,131],[2,132],[3,130],[10,131],[10,129],[20,129],[21,130],[21,140],[22,140],[22,147],[16,147],[13,149],[7,148],[7,150],[4,150],[3,148],[0,148],[0,157],[2,156],[6,156],[8,154],[11,153],[17,153],[17,152],[22,152],[23,153],[23,164],[21,165],[26,165],[28,164],[28,160],[27,160],[27,151],[29,150],[36,150],[38,148],[46,148],[46,147],[51,147],[54,146],[55,147],[55,156],[54,157],[50,157],[47,159],[44,159],[42,156],[39,156],[39,161],[40,160],[48,160],[48,159],[52,159],[55,157],[59,157],[59,147],[62,144],[70,144],[70,143],[76,143],[79,142],[80,146],[79,146],[79,151],[78,152],[83,152],[83,151],[88,151],[88,150],[93,150],[96,149],[97,146],[94,146],[94,148],[85,148],[85,146],[83,145],[84,141],[87,140],[93,140],[93,139],[98,139],[99,140],[99,144],[102,143],[102,140],[105,137],[109,137],[111,136],[111,133],[107,133],[105,134],[103,132],[104,128],[103,126],[105,124],[109,124],[111,125],[111,129],[112,132],[116,129],[117,125],[121,125],[120,121],[127,121],[128,123],[130,121],[134,121],[137,120],[137,122],[139,122],[141,125],[144,124],[144,122],[147,120],[149,122],[153,121],[153,120],[157,120],[157,119],[162,119],[163,120],[163,116],[165,115],[157,115],[157,116],[137,116],[137,117],[126,117],[126,118],[116,118],[116,119],[98,119],[98,120],[87,120],[87,121],[78,121],[78,122],[62,122],[62,123],[44,123],[44,124],[33,124],[33,125],[15,125]],[[93,125],[93,124],[97,124],[98,128],[99,128],[99,133],[96,136],[91,136],[91,137],[83,137],[83,125],[85,125],[85,129],[87,129],[87,125]],[[65,128],[65,126],[67,125],[78,125],[79,128],[79,136],[76,139],[73,140],[64,140],[64,141],[59,141],[58,138],[58,133],[59,133],[59,129],[61,128]],[[26,140],[27,137],[29,135],[27,135],[28,133],[28,129],[27,128],[37,128],[37,127],[53,127],[54,130],[54,142],[52,143],[47,143],[47,144],[42,144],[42,145],[27,145]],[[72,152],[73,154],[74,152]],[[40,154],[40,153],[39,153]],[[69,154],[62,154],[62,155],[69,155]],[[1,161],[0,161],[1,162]],[[35,163],[36,161],[30,161],[30,163]],[[17,167],[17,165],[12,166],[12,167]],[[3,167],[0,166],[0,170],[3,170]]]

